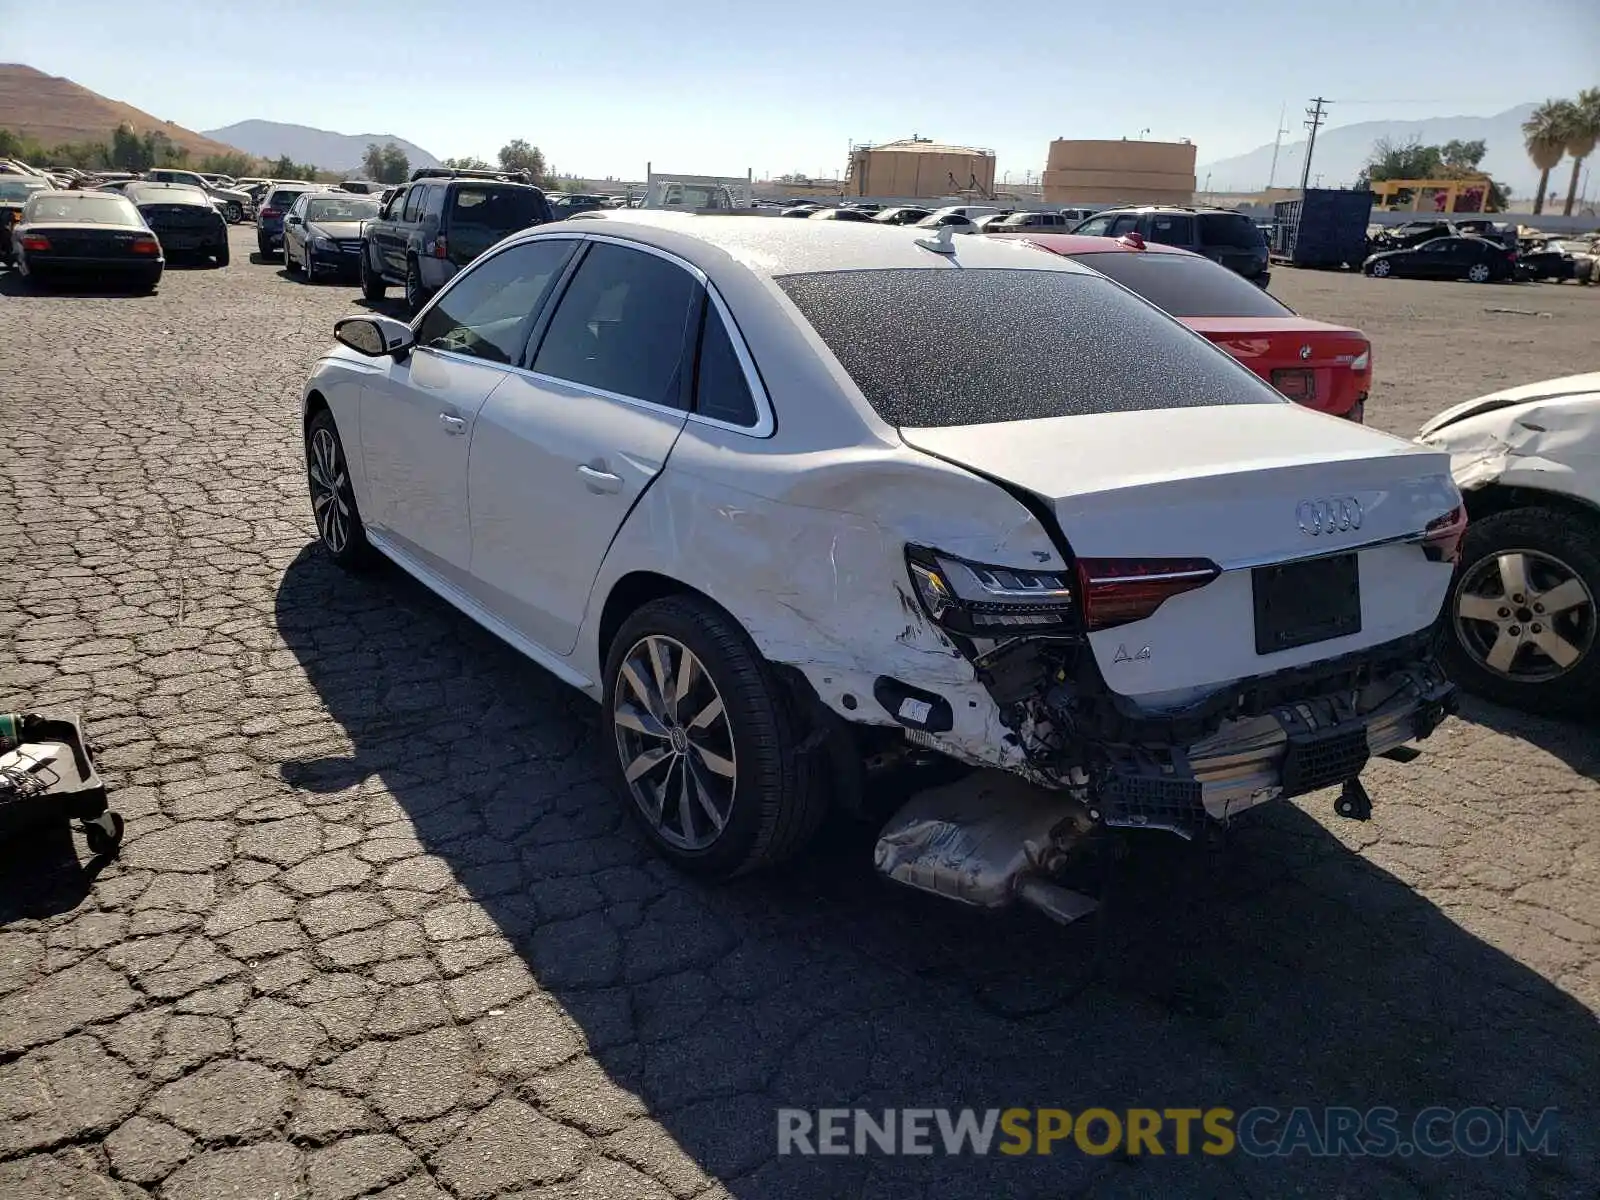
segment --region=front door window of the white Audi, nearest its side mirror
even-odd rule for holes
[[[464,272],[416,326],[416,344],[514,365],[574,242],[512,246]]]

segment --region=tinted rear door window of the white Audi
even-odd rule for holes
[[[562,296],[533,370],[682,408],[699,282],[659,254],[595,242]]]

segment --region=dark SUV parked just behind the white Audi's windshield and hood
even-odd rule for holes
[[[544,190],[520,173],[421,170],[362,227],[362,293],[382,299],[405,286],[406,306],[427,298],[507,234],[554,221]]]

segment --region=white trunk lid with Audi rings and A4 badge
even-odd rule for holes
[[[1448,456],[1296,405],[901,435],[1037,496],[1080,560],[1210,560],[1221,568],[1144,619],[1090,634],[1106,682],[1150,707],[1416,632],[1438,614],[1450,582],[1450,563],[1430,562],[1414,544],[1429,522],[1461,502]],[[1334,528],[1312,533],[1326,517]],[[1258,568],[1342,555],[1355,557],[1358,629],[1262,650],[1256,594],[1267,584],[1256,579]]]

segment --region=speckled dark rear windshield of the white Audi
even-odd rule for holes
[[[1099,275],[923,267],[778,283],[893,426],[1288,403]]]

